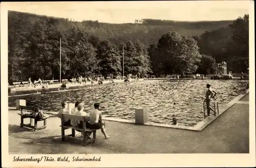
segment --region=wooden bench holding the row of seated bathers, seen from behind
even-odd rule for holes
[[[81,132],[83,134],[83,145],[86,146],[87,143],[93,142],[95,143],[96,141],[96,130],[95,129],[90,129],[86,128],[86,122],[90,121],[89,116],[81,116],[81,115],[71,115],[71,114],[62,114],[58,113],[58,117],[61,119],[61,139],[62,141],[65,141],[66,137],[72,137],[75,138],[75,130]],[[72,126],[64,126],[64,120],[63,119],[77,119],[78,121],[82,121],[83,128],[79,127],[72,127]],[[67,129],[72,129],[72,134],[71,135],[65,135],[65,130]],[[90,139],[88,133],[93,132],[93,139]],[[77,138],[75,138],[77,139]]]

